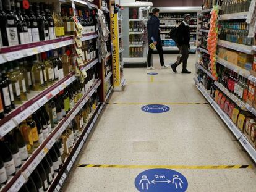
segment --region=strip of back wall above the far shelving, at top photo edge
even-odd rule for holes
[[[152,0],[154,7],[202,6],[203,0]]]

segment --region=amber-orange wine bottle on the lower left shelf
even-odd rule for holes
[[[33,152],[33,136],[31,132],[31,128],[29,125],[27,125],[26,120],[23,120],[23,122],[20,124],[20,131],[22,133],[23,138],[26,141],[27,144],[27,151],[28,153]]]

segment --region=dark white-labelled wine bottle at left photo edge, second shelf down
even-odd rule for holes
[[[12,106],[11,106],[11,95],[9,90],[9,85],[2,77],[2,73],[0,72],[0,93],[1,98],[3,98],[3,104],[4,104],[4,113],[9,114],[11,112]]]

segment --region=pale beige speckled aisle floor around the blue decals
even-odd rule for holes
[[[166,55],[165,61],[174,61]],[[127,86],[113,93],[77,164],[97,165],[254,165],[233,134],[195,88],[193,75],[125,69]],[[189,69],[194,72],[195,56]],[[145,104],[166,104],[163,114],[148,114]],[[192,167],[190,167],[192,168]],[[149,169],[149,168],[148,168]],[[137,191],[134,180],[145,169],[82,168],[70,175],[64,191]],[[253,169],[174,169],[187,191],[255,191]]]

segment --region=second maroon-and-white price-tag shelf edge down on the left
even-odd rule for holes
[[[23,120],[27,119],[33,114],[37,109],[46,104],[51,98],[56,96],[59,92],[64,90],[70,83],[74,82],[76,79],[75,75],[70,73],[62,80],[54,83],[54,85],[46,88],[46,90],[41,91],[32,99],[26,101],[21,106],[10,112],[4,119],[1,120],[0,124],[0,138],[9,133],[13,128],[15,128]]]

